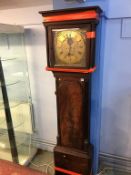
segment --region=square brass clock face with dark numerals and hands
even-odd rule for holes
[[[58,66],[84,66],[86,60],[86,30],[55,30],[54,53],[55,64]]]

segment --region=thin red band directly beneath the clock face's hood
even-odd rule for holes
[[[92,73],[96,70],[96,66],[90,69],[64,69],[64,68],[52,68],[52,67],[46,67],[47,71],[54,71],[54,72],[73,72],[73,73]]]

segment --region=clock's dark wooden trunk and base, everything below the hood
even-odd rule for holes
[[[90,144],[90,75],[54,73],[54,76],[58,112],[55,166],[88,175],[93,152]],[[56,175],[65,174],[56,171]]]

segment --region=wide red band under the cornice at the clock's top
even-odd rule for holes
[[[55,21],[69,21],[69,20],[80,20],[80,19],[98,19],[99,14],[95,10],[69,13],[63,15],[46,16],[44,22],[55,22]]]

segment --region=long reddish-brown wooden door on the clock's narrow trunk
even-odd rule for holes
[[[82,150],[85,142],[88,142],[86,140],[89,130],[88,115],[85,120],[83,118],[84,95],[85,84],[80,78],[57,79],[58,126],[62,146]],[[85,127],[86,131],[84,131]]]

